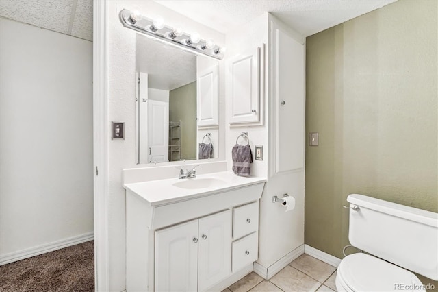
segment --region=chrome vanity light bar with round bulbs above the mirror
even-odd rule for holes
[[[131,11],[127,9],[120,11],[119,16],[123,26],[133,29],[136,32],[153,36],[157,40],[168,42],[187,51],[201,53],[219,60],[224,58],[224,47],[215,45],[211,39],[201,39],[201,36],[196,32],[187,34],[179,27],[168,27],[164,24],[164,19],[160,16],[155,17],[155,19],[149,19],[143,16],[138,10]],[[198,43],[200,45],[198,45]]]

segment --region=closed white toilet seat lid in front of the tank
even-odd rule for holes
[[[336,287],[339,291],[426,291],[411,271],[363,253],[341,261]]]

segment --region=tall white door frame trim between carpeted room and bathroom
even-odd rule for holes
[[[96,291],[109,291],[107,0],[93,1],[93,19],[94,283]]]

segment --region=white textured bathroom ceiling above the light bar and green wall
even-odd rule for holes
[[[155,0],[226,34],[272,12],[304,36],[311,36],[396,0]]]

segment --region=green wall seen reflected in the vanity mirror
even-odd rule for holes
[[[196,82],[170,90],[169,121],[181,120],[181,160],[196,159]]]

